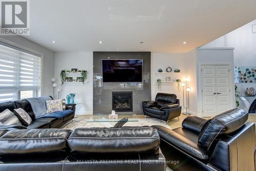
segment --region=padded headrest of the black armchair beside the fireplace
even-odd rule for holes
[[[167,94],[167,93],[157,93],[156,95],[156,102],[157,105],[162,106],[162,105],[170,105],[176,103],[177,96],[176,94]]]

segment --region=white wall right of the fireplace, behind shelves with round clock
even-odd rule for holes
[[[165,72],[165,69],[170,66],[173,69],[180,69],[179,74],[157,74],[159,68]],[[178,91],[176,82],[162,83],[162,91],[158,91],[157,79],[165,80],[166,76],[171,76],[172,79],[181,79],[188,77],[188,87],[191,88],[190,92],[190,108],[189,112],[197,115],[197,82],[196,82],[196,50],[187,53],[151,53],[151,96],[152,100],[155,99],[158,92],[173,93],[180,99],[180,104],[183,106],[182,87]]]

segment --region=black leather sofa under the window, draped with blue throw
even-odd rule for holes
[[[51,96],[50,96],[51,97]],[[52,98],[52,97],[51,97]],[[52,98],[53,99],[53,98]],[[16,128],[16,129],[48,129],[48,128],[58,128],[63,124],[72,120],[75,116],[75,106],[76,104],[66,104],[66,110],[63,112],[69,112],[67,115],[59,114],[58,117],[46,115],[41,118],[35,118],[35,114],[32,110],[31,104],[26,100],[16,100],[0,103],[0,112],[9,109],[13,112],[14,109],[22,108],[24,109],[32,119],[32,123],[28,126],[24,125],[0,125],[0,129]]]

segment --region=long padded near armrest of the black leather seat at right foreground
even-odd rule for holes
[[[200,160],[207,160],[209,157],[207,155],[207,151],[194,142],[193,140],[188,139],[181,134],[168,129],[167,127],[154,125],[160,135],[160,138],[166,141],[167,143],[175,146],[176,148],[180,149],[183,152],[186,152],[190,156],[193,156]],[[195,134],[197,137],[198,135]]]

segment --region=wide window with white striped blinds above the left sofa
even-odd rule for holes
[[[0,102],[38,96],[40,75],[38,55],[0,45]]]

